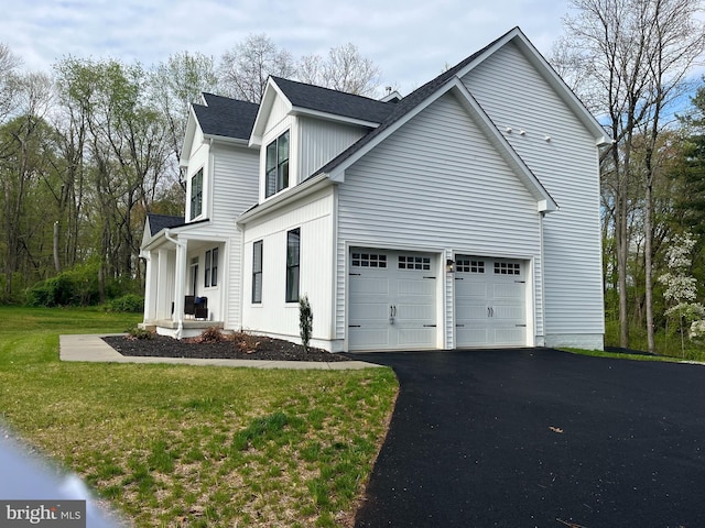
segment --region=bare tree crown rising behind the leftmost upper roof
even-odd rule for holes
[[[221,90],[236,99],[260,102],[270,75],[293,77],[292,55],[265,34],[251,34],[223,55]]]

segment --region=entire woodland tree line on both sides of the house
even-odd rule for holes
[[[607,341],[659,351],[705,319],[676,309],[660,279],[692,277],[693,306],[705,295],[705,82],[693,79],[703,1],[571,0],[563,29],[549,61],[612,140],[599,158]],[[4,302],[80,268],[99,300],[116,284],[141,293],[145,212],[183,213],[178,156],[202,91],[259,102],[276,75],[373,96],[381,77],[352,44],[294,58],[263,34],[217,62],[182,52],[151,67],[75,57],[51,73],[20,66],[0,45]],[[676,274],[669,255],[683,240],[693,243]]]

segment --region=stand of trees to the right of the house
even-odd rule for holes
[[[691,78],[704,64],[703,2],[570,3],[552,63],[612,140],[600,153],[607,336],[655,352],[669,323],[683,333],[705,319],[697,302],[673,310],[679,301],[659,280],[673,275],[669,255],[686,239],[680,276],[705,278],[705,87]]]

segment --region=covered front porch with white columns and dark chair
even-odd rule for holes
[[[225,328],[220,283],[227,241],[198,235],[192,226],[163,229],[143,244],[147,284],[140,328],[175,339]]]

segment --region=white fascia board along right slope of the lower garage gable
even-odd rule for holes
[[[507,139],[499,131],[497,125],[489,118],[487,112],[480,107],[480,103],[465,87],[458,77],[448,82],[449,91],[453,91],[465,110],[470,114],[470,119],[480,125],[480,129],[487,139],[497,146],[498,153],[514,169],[524,187],[536,199],[538,210],[550,212],[558,209],[558,205],[551,197],[546,188],[541,184],[539,178],[533,174],[521,156],[509,144]]]

